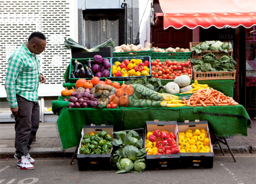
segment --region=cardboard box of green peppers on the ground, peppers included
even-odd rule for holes
[[[111,170],[112,140],[112,125],[83,126],[77,151],[79,170]]]

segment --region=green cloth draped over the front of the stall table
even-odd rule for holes
[[[159,107],[115,109],[102,108],[68,108],[69,102],[53,101],[52,110],[59,115],[57,126],[63,149],[76,147],[81,138],[81,129],[90,124],[111,124],[114,131],[144,128],[146,121],[172,120],[208,120],[209,129],[218,137],[247,136],[247,127],[251,120],[245,108],[238,106],[208,107]]]

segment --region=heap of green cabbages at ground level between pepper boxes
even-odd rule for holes
[[[113,145],[118,149],[112,156],[112,162],[117,165],[118,173],[142,172],[146,168],[143,139],[134,130],[114,132]]]

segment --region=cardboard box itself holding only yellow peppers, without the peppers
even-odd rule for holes
[[[208,132],[208,138],[210,139],[210,132],[208,128],[208,121],[195,122],[178,122],[177,127],[179,132],[185,132],[191,128],[192,131],[196,129],[204,128]],[[212,168],[213,167],[213,148],[210,141],[210,153],[180,153],[180,168]]]

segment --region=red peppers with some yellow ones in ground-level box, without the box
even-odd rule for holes
[[[147,154],[177,154],[180,153],[177,147],[176,136],[174,132],[156,129],[153,132],[147,132],[146,152]]]

